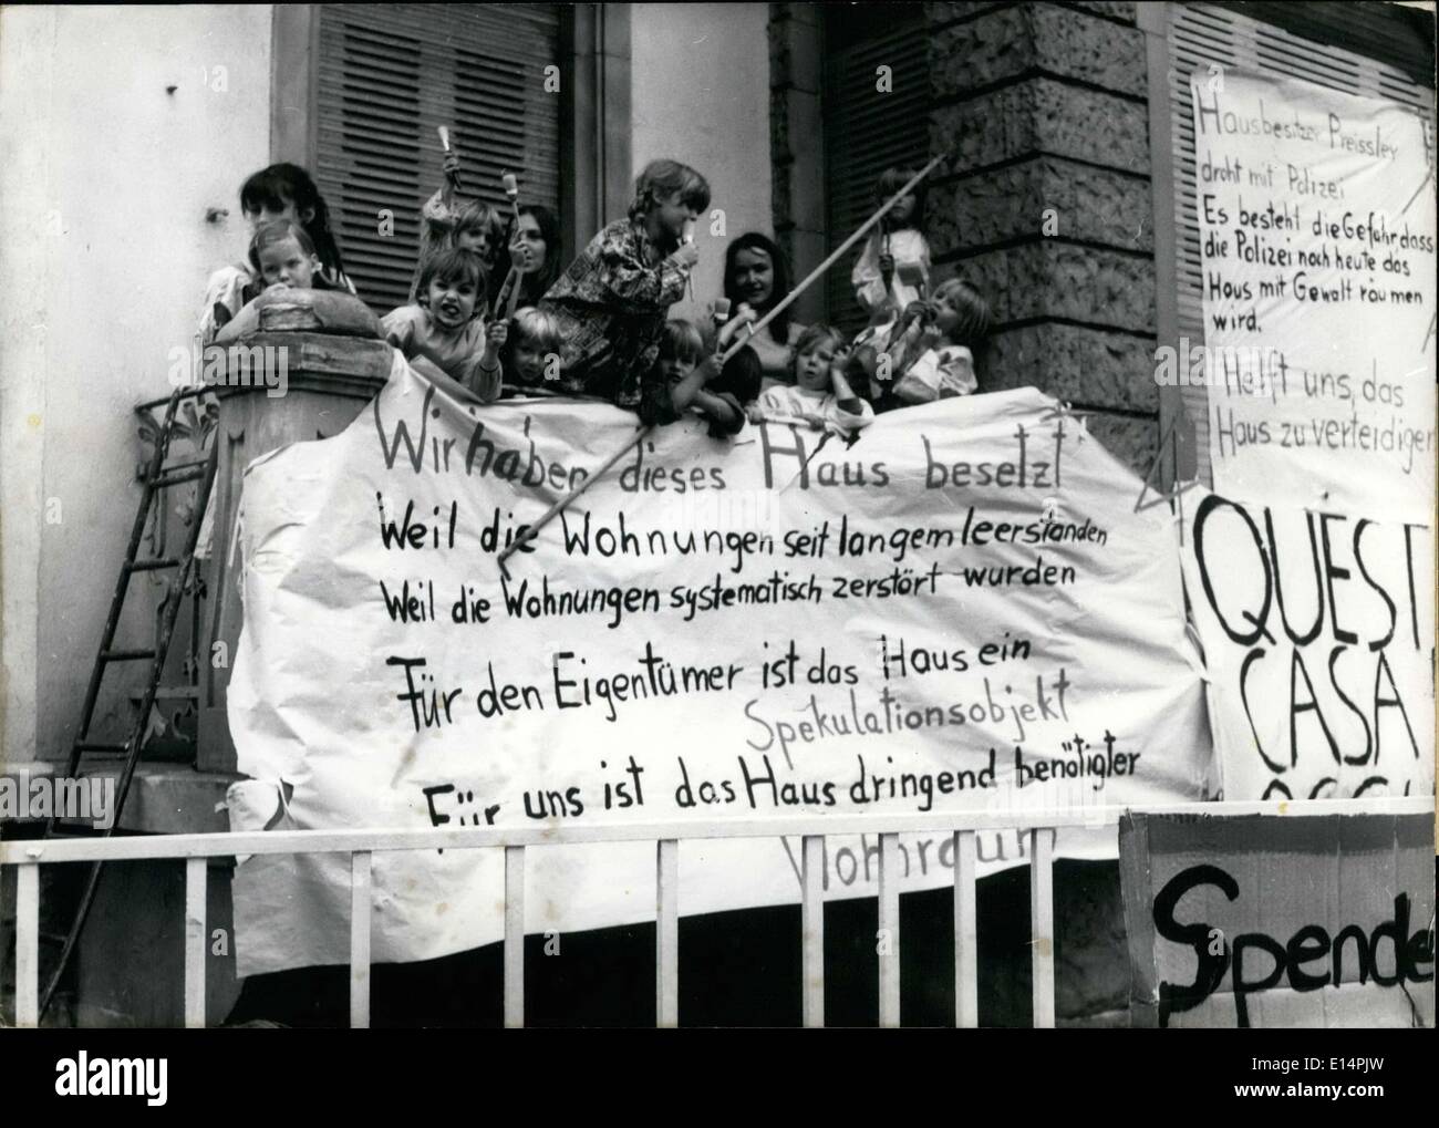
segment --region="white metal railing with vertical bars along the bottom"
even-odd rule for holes
[[[525,847],[596,842],[655,842],[656,1020],[679,1023],[679,845],[694,839],[800,837],[803,1022],[825,1024],[823,839],[879,834],[879,928],[888,938],[879,958],[879,1024],[899,1024],[899,834],[954,834],[954,1020],[979,1026],[976,921],[976,833],[1022,830],[1029,836],[1033,1023],[1055,1024],[1053,843],[1061,827],[1118,823],[1134,810],[1148,814],[1318,817],[1333,814],[1433,813],[1433,797],[1328,801],[1181,803],[1138,807],[973,811],[904,816],[789,816],[630,826],[471,827],[456,830],[288,830],[229,834],[157,834],[112,839],[0,842],[0,866],[16,866],[16,1023],[39,1020],[39,912],[42,865],[186,859],[184,1023],[203,1027],[206,859],[235,855],[350,855],[350,1024],[370,1024],[370,863],[377,852],[502,849],[505,852],[504,1020],[522,1026],[525,937]]]

